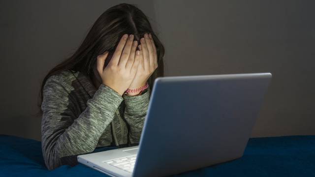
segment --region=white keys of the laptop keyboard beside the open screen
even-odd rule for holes
[[[137,154],[134,154],[134,155],[126,156],[126,157],[107,160],[107,161],[104,161],[104,163],[107,163],[119,169],[125,170],[126,172],[132,173],[134,163],[136,161],[136,157],[137,157]]]

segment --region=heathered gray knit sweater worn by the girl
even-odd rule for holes
[[[76,165],[79,154],[97,147],[139,143],[150,88],[141,95],[121,96],[101,84],[95,88],[80,72],[50,76],[44,85],[42,152],[49,170]]]

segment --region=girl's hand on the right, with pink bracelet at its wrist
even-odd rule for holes
[[[144,86],[152,73],[158,68],[157,49],[152,35],[150,34],[149,36],[147,33],[145,33],[144,37],[140,39],[140,43],[140,63],[138,64],[135,77],[128,89],[136,89]],[[138,93],[130,94],[135,95]]]

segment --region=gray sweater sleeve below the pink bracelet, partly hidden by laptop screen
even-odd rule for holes
[[[144,119],[148,111],[150,91],[149,87],[141,95],[123,95],[126,104],[124,118],[130,126],[128,138],[131,144],[139,143],[140,141]]]

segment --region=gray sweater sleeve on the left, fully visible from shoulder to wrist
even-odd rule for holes
[[[71,160],[66,157],[92,152],[124,100],[114,89],[101,84],[86,109],[75,116],[78,108],[66,88],[69,86],[63,78],[54,75],[43,89],[42,152],[49,170],[69,165]]]

